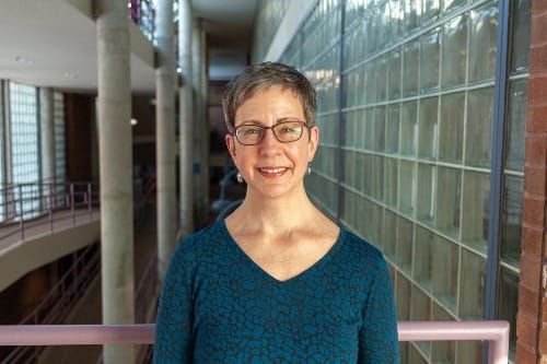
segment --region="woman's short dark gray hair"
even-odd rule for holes
[[[234,131],[237,108],[261,89],[279,85],[292,90],[300,98],[309,128],[315,125],[317,102],[310,81],[295,68],[278,62],[247,66],[230,81],[222,94],[222,109],[228,130]]]

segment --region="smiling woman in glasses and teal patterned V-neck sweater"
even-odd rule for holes
[[[184,239],[162,291],[155,363],[398,363],[382,254],[307,198],[315,91],[281,63],[223,95],[242,204]]]

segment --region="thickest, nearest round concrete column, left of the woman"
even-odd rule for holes
[[[97,115],[103,322],[135,322],[129,15],[97,0]],[[133,345],[104,345],[104,362],[135,363]]]

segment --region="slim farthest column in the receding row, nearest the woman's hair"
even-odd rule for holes
[[[203,145],[203,99],[201,92],[201,19],[194,19],[191,33],[191,80],[194,81],[194,211],[196,213],[195,224],[201,227],[203,224],[203,169],[202,145]]]

